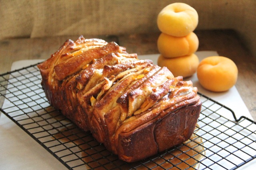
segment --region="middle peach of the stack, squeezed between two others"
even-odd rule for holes
[[[161,33],[157,40],[158,51],[167,58],[191,55],[198,49],[199,40],[194,32],[184,37]]]

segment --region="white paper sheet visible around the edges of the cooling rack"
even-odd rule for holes
[[[218,55],[215,51],[196,52],[200,60],[204,57]],[[151,59],[157,64],[158,54],[141,55],[140,59]],[[12,70],[22,68],[31,64],[38,63],[42,60],[23,60],[12,64]],[[252,119],[247,107],[240,97],[236,87],[234,86],[228,92],[213,93],[204,90],[198,83],[196,74],[191,78],[194,86],[198,87],[198,91],[202,94],[230,107],[237,117],[245,115]],[[239,106],[239,107],[238,107]],[[232,115],[223,115],[229,119],[233,119]],[[2,114],[0,119],[0,169],[20,169],[20,170],[58,170],[66,169],[56,158],[40,146],[34,139],[27,135],[20,127],[13,123],[6,115]],[[256,162],[249,162],[239,169],[250,170]]]

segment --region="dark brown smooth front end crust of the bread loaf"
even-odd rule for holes
[[[126,162],[147,158],[187,141],[195,129],[201,110],[201,102],[182,107],[163,117],[152,120],[134,131],[120,133],[118,155]],[[158,118],[160,119],[160,118]]]

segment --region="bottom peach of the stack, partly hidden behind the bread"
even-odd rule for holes
[[[166,66],[172,74],[177,76],[189,77],[196,72],[199,59],[194,53],[182,57],[166,58],[162,54],[158,57],[158,66]]]

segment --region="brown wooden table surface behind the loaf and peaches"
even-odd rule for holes
[[[235,31],[199,30],[195,31],[200,45],[198,51],[217,51],[219,55],[232,59],[238,66],[236,88],[252,117],[256,120],[256,58],[244,47]],[[156,54],[156,41],[160,33],[134,35],[84,36],[116,41],[126,47],[128,53],[138,55]],[[14,61],[24,59],[47,59],[66,41],[78,36],[19,38],[0,41],[0,74],[10,71]]]

